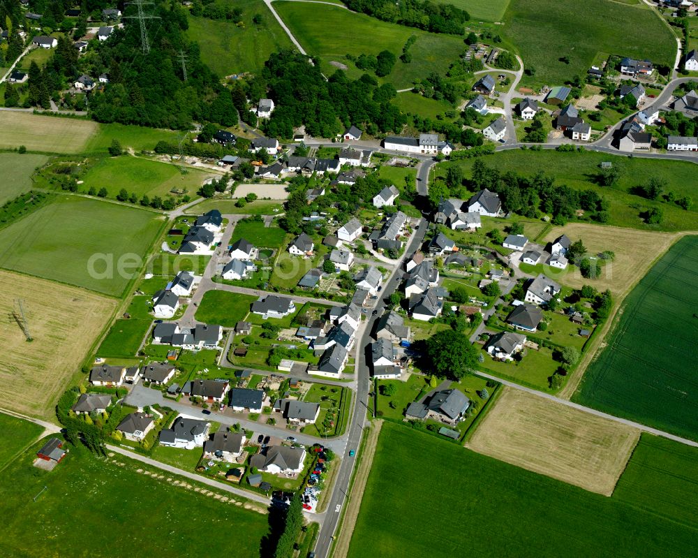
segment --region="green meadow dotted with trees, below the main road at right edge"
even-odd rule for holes
[[[612,2],[611,2],[612,3]],[[457,164],[470,177],[470,169],[475,159],[466,159],[457,163],[442,163],[438,166],[438,175],[444,176],[448,166]],[[610,161],[621,169],[618,184],[612,188],[598,186],[594,177],[599,172],[602,161]],[[533,176],[542,170],[547,176],[554,177],[556,184],[565,184],[578,190],[593,190],[611,204],[609,225],[639,228],[642,230],[695,230],[698,220],[698,206],[686,211],[674,203],[660,203],[647,200],[630,193],[635,186],[645,184],[650,177],[661,177],[667,181],[665,190],[672,191],[677,198],[691,196],[695,198],[695,165],[683,161],[667,159],[628,158],[590,151],[556,152],[550,149],[542,151],[523,151],[511,149],[499,152],[484,159],[487,166],[498,168],[500,172],[518,172]],[[641,212],[650,207],[661,207],[664,219],[659,225],[648,225],[641,218]]]

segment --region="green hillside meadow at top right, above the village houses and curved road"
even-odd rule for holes
[[[521,85],[563,85],[586,71],[598,52],[673,66],[676,41],[644,5],[610,0],[511,0],[502,29],[519,48],[524,68],[535,68]],[[570,57],[570,64],[560,57]]]

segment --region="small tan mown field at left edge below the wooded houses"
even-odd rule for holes
[[[29,151],[80,153],[97,132],[99,124],[89,120],[0,112],[0,149],[24,145]]]

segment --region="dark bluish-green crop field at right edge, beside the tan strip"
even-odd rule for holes
[[[573,399],[698,439],[698,236],[678,240],[630,292]]]

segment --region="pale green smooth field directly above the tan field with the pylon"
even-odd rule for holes
[[[162,225],[154,212],[61,196],[3,230],[0,267],[118,296]]]

